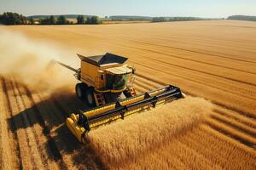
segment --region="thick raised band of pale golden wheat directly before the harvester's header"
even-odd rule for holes
[[[98,128],[89,133],[89,140],[107,167],[118,168],[136,162],[140,156],[194,127],[211,108],[212,105],[203,99],[180,99]]]

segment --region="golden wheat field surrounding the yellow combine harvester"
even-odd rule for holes
[[[0,26],[1,169],[256,169],[256,23],[211,20],[101,26]],[[65,118],[75,54],[129,57],[143,93],[188,95],[97,128],[79,144]]]

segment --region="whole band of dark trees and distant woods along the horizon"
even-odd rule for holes
[[[76,22],[74,20],[76,19]],[[199,18],[199,17],[149,17],[149,16],[130,16],[113,15],[99,18],[94,15],[64,14],[64,15],[32,15],[24,16],[22,14],[6,12],[0,14],[0,24],[3,25],[98,25],[102,21],[148,21],[148,22],[172,22],[189,20],[224,20],[224,18]],[[256,21],[256,16],[233,15],[227,20],[252,20]]]

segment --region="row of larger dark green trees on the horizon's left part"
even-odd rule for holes
[[[69,21],[64,15],[55,17],[50,15],[44,19],[34,20],[32,17],[26,17],[22,14],[6,12],[0,14],[0,23],[3,25],[72,25],[72,24],[90,24],[97,25],[101,24],[97,16],[84,17],[84,15],[78,15],[77,23]]]

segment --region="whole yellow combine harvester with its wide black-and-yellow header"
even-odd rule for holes
[[[67,127],[80,142],[85,142],[85,135],[92,128],[184,97],[172,85],[137,95],[133,88],[135,69],[125,64],[125,57],[107,53],[92,57],[79,55],[79,58],[78,70],[55,62],[75,72],[79,81],[76,94],[91,107],[67,118]]]

